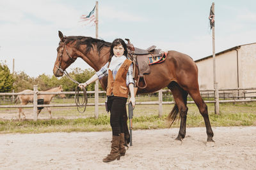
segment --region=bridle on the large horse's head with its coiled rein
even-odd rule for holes
[[[69,53],[68,53],[68,50],[67,50],[67,46],[66,46],[66,43],[64,44],[65,46],[65,50],[67,52],[67,55],[70,59],[72,59],[72,62],[74,62],[76,59],[72,58]],[[63,47],[64,48],[64,47]],[[64,50],[64,49],[63,49]],[[79,99],[79,89],[80,87],[78,86],[79,85],[79,82],[74,80],[69,74],[67,71],[61,69],[61,58],[62,58],[62,55],[63,55],[63,50],[61,52],[61,55],[60,55],[60,66],[57,66],[56,67],[58,68],[59,71],[61,71],[63,74],[65,74],[65,76],[67,76],[67,78],[71,81],[73,81],[74,83],[77,84],[77,87],[76,87],[76,92],[75,92],[75,103],[76,103],[76,108],[77,108],[77,111],[79,111],[79,113],[84,113],[84,111],[86,110],[86,105],[87,105],[87,102],[88,102],[88,98],[87,98],[87,92],[86,92],[86,89],[84,87],[82,87],[82,90],[83,90],[83,99],[82,101],[80,101]],[[83,111],[80,110],[80,108],[83,108]]]

